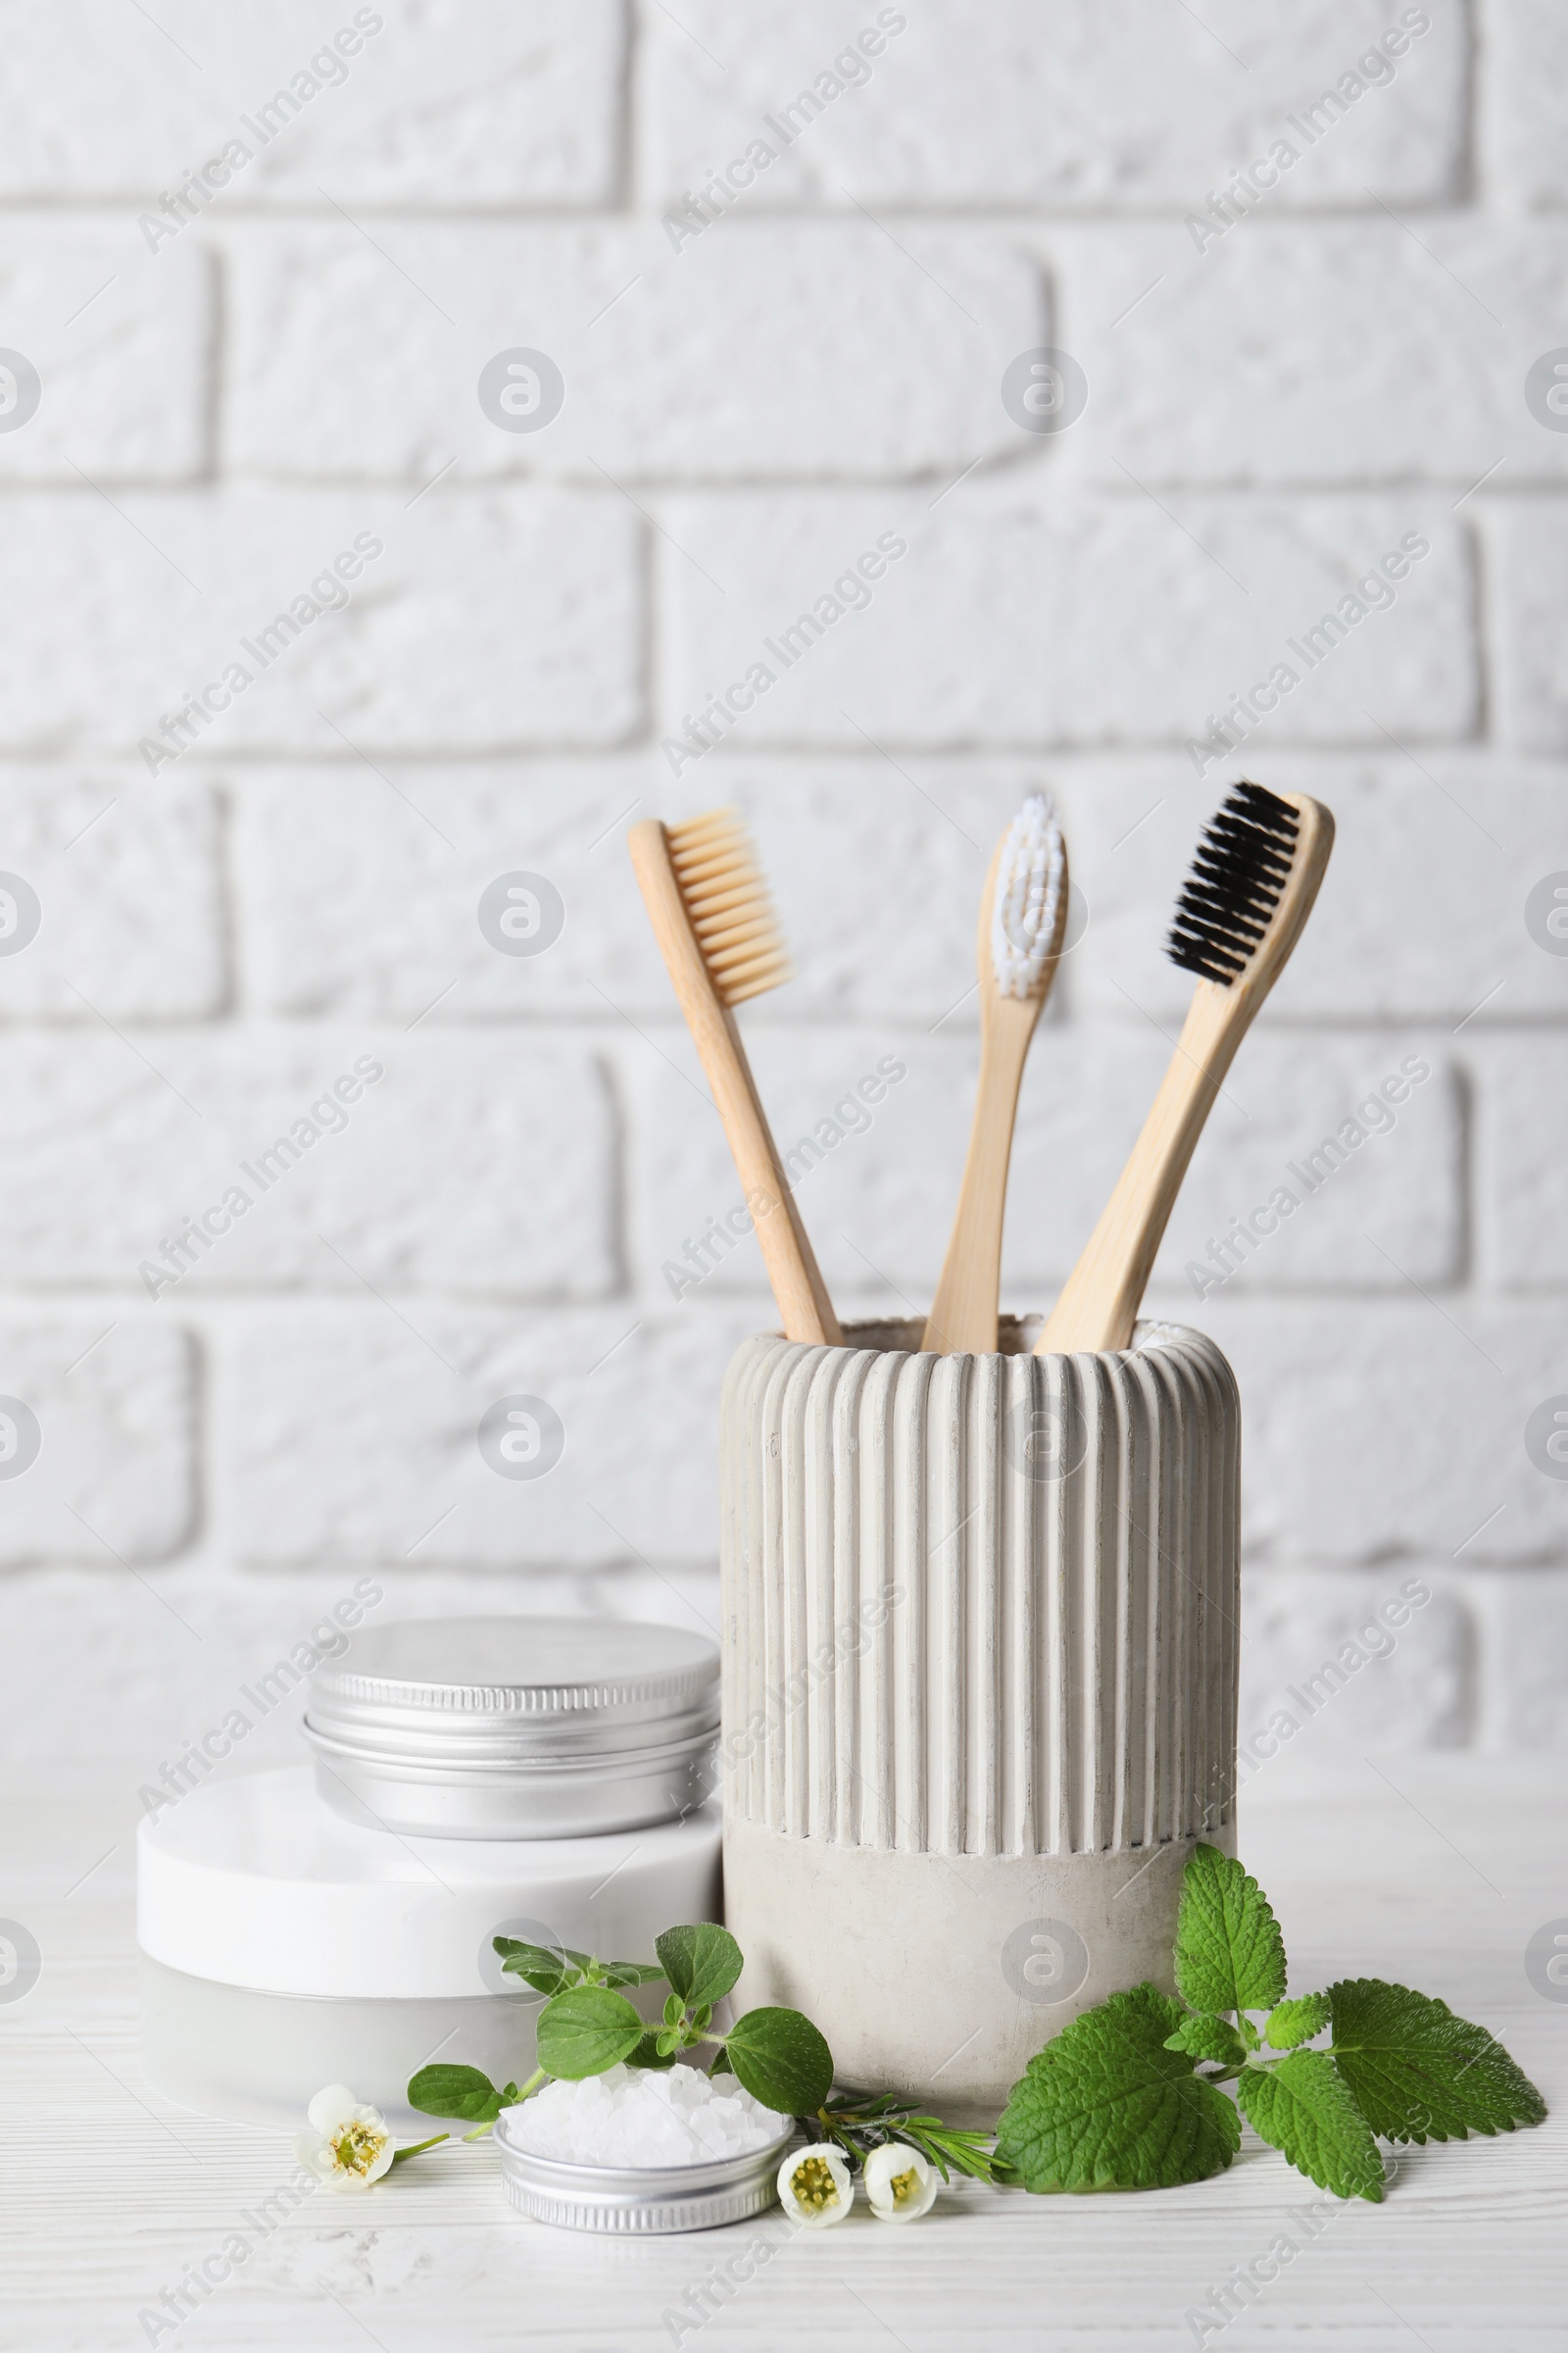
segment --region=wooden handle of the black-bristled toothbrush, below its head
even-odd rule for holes
[[[1220,1082],[1253,1019],[1229,988],[1199,981],[1143,1132],[1034,1341],[1037,1355],[1131,1348],[1150,1268],[1171,1224],[1187,1162]]]

